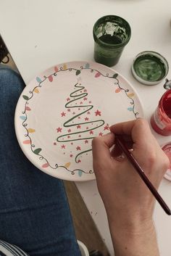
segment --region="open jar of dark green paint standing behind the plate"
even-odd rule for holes
[[[130,35],[130,25],[122,17],[101,17],[93,26],[95,61],[108,67],[116,65]]]

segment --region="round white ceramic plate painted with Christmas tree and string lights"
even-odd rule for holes
[[[109,126],[143,116],[130,83],[98,63],[68,62],[31,80],[15,111],[17,139],[43,172],[69,181],[93,173],[91,141]]]

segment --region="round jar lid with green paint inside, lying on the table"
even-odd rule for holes
[[[167,60],[156,51],[142,51],[133,60],[133,76],[139,82],[149,86],[160,83],[168,71]]]

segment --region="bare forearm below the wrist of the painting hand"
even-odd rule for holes
[[[152,223],[145,228],[112,228],[110,226],[115,256],[159,256],[157,236]]]

